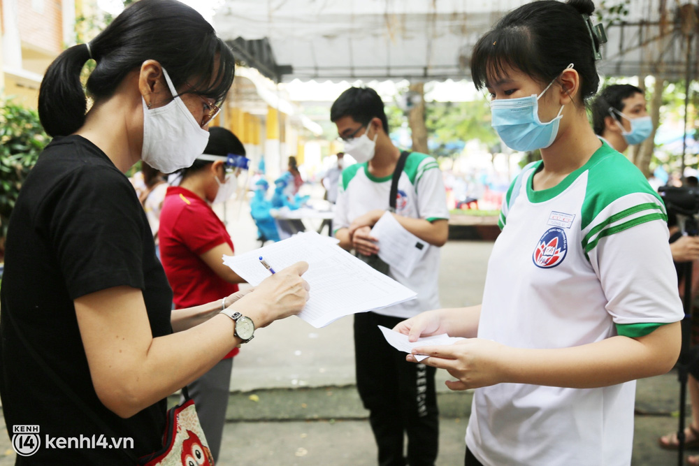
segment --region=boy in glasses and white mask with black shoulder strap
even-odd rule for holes
[[[376,267],[416,291],[417,299],[355,314],[354,352],[356,385],[370,412],[378,463],[433,465],[439,433],[435,370],[407,363],[378,326],[392,328],[439,305],[439,248],[447,241],[449,219],[442,172],[433,157],[398,150],[391,142],[384,104],[374,89],[347,89],[333,103],[330,119],[345,141],[345,152],[357,161],[343,170],[338,184],[333,230],[340,247],[370,258],[370,264],[381,263],[376,254],[391,238],[374,238],[371,227],[391,210],[394,173],[395,209],[391,214],[405,230],[428,243],[409,276],[385,263]],[[408,458],[403,453],[406,434]]]

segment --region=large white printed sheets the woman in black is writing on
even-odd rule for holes
[[[248,283],[257,286],[270,276],[259,257],[279,272],[298,261],[308,262],[303,279],[310,299],[298,314],[315,328],[356,312],[380,309],[417,296],[315,232],[300,233],[240,256],[223,256],[223,262]]]

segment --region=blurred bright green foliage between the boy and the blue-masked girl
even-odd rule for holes
[[[472,102],[433,102],[426,105],[427,131],[440,146],[437,151],[433,151],[440,156],[458,155],[446,150],[446,145],[455,141],[465,143],[477,139],[489,147],[497,145],[500,139],[490,120],[490,105],[485,99]]]

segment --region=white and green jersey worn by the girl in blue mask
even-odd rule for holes
[[[556,187],[534,191],[540,168],[526,166],[507,192],[478,337],[554,349],[682,320],[665,206],[640,170],[606,143]],[[466,444],[484,464],[628,464],[634,398],[635,381],[478,388]]]

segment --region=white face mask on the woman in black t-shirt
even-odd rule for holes
[[[162,173],[173,173],[192,166],[196,156],[206,148],[209,132],[199,126],[192,112],[182,102],[170,76],[163,68],[165,80],[174,99],[158,108],[148,108],[143,100],[143,148],[140,158]]]

